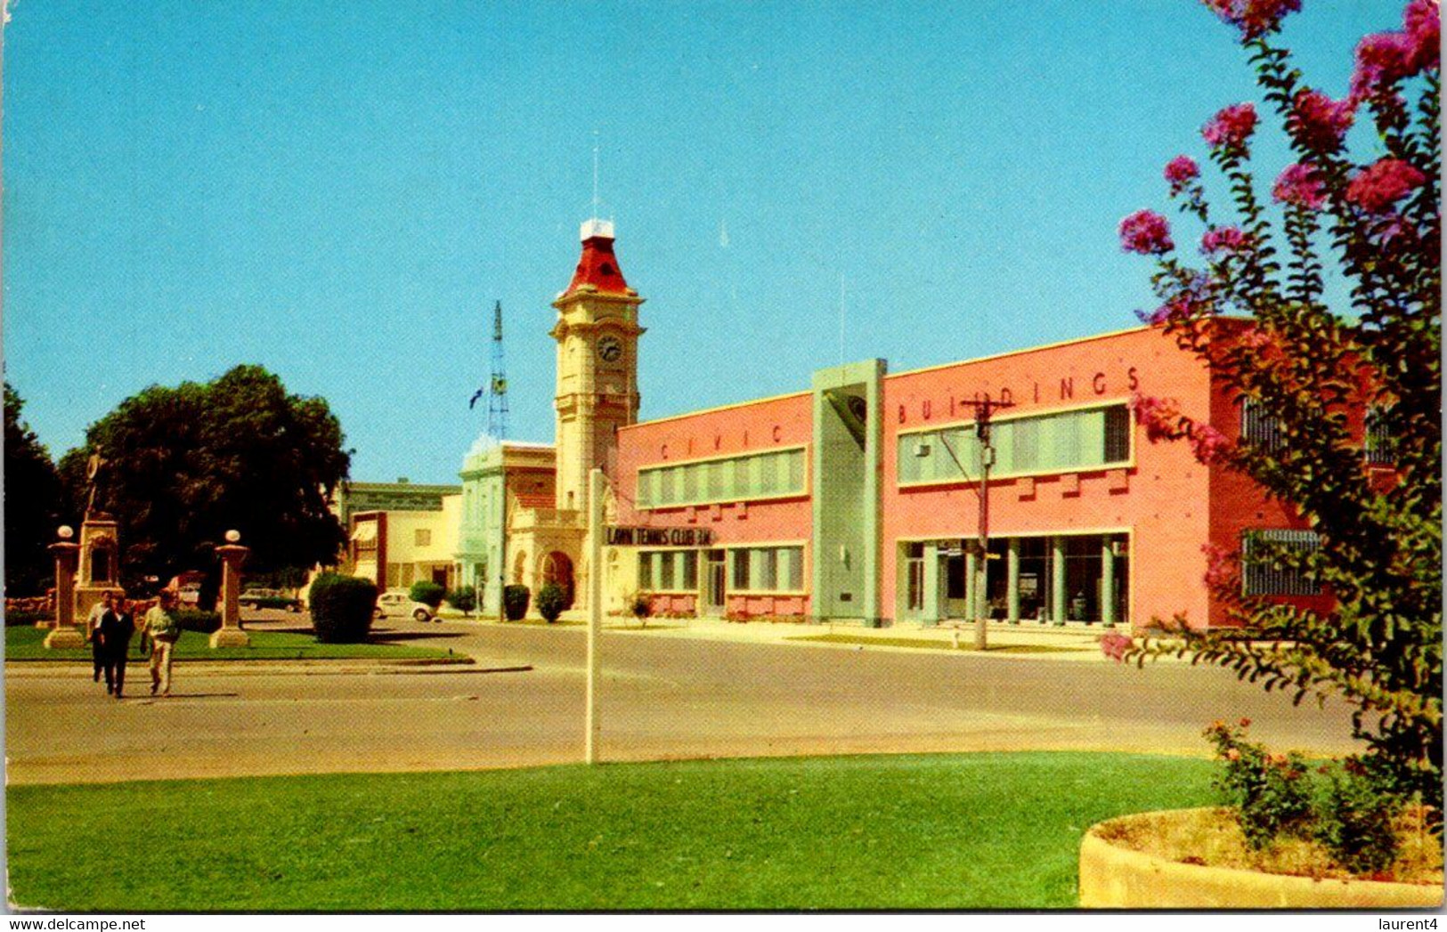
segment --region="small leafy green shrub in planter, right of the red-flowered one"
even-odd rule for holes
[[[1357,758],[1325,767],[1317,797],[1317,841],[1336,861],[1356,874],[1383,871],[1396,860],[1395,821],[1401,796],[1367,773]]]

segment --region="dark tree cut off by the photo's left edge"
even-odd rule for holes
[[[55,543],[61,480],[51,454],[20,420],[25,401],[4,384],[4,588],[38,595],[55,579],[46,550]]]

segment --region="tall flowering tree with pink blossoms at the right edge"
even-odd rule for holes
[[[1270,185],[1279,207],[1269,208],[1252,171],[1256,107],[1226,107],[1201,135],[1229,185],[1229,217],[1208,203],[1194,159],[1165,166],[1171,198],[1204,227],[1201,260],[1178,255],[1168,220],[1152,211],[1126,217],[1120,236],[1158,263],[1162,304],[1142,317],[1270,428],[1229,439],[1169,398],[1136,398],[1134,414],[1152,441],[1185,440],[1202,463],[1249,475],[1289,504],[1318,546],[1257,543],[1252,557],[1334,599],[1311,611],[1244,595],[1240,554],[1213,553],[1207,582],[1257,637],[1189,631],[1178,619],[1168,627],[1179,638],[1134,654],[1191,653],[1298,702],[1346,698],[1369,763],[1398,790],[1421,792],[1440,825],[1438,3],[1411,0],[1401,30],[1362,39],[1350,93],[1333,100],[1273,45],[1301,0],[1204,1],[1239,30],[1297,161]],[[1378,143],[1360,159],[1346,137],[1367,120]]]

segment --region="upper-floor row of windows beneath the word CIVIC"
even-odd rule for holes
[[[638,470],[640,508],[671,508],[805,493],[805,452],[776,450]]]

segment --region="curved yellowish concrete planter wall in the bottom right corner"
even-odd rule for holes
[[[1198,812],[1178,810],[1181,816]],[[1106,826],[1160,819],[1159,812],[1091,826],[1081,841],[1079,897],[1085,909],[1427,909],[1443,889],[1370,880],[1312,880],[1227,867],[1181,864],[1101,838]]]

